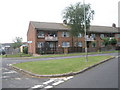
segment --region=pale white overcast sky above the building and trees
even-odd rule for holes
[[[85,0],[95,11],[91,25],[118,26],[118,2],[120,0]],[[62,23],[62,12],[70,4],[83,0],[1,0],[0,43],[11,43],[15,37],[27,41],[30,21]]]

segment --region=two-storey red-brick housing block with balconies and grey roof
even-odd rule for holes
[[[31,54],[84,52],[84,34],[71,37],[70,28],[64,23],[30,21],[27,32],[28,52]],[[91,26],[87,35],[88,51],[115,49],[105,47],[102,38],[115,38],[120,44],[120,32],[116,27]]]

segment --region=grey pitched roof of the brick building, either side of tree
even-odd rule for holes
[[[58,30],[70,30],[70,27],[64,25],[63,23],[51,23],[51,22],[35,22],[31,21],[31,24],[37,30],[51,30],[51,31],[58,31]],[[120,30],[118,28],[108,27],[108,26],[94,26],[90,27],[89,32],[94,33],[118,33]]]

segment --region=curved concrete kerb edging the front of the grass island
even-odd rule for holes
[[[14,69],[15,71],[18,71],[18,72],[21,72],[21,73],[24,73],[24,74],[26,74],[26,75],[30,75],[30,76],[32,76],[32,77],[36,77],[36,78],[41,78],[41,77],[44,77],[44,78],[54,78],[54,77],[67,77],[67,76],[73,76],[73,75],[77,75],[77,74],[80,74],[80,73],[83,73],[83,72],[85,72],[85,71],[87,71],[87,70],[89,70],[89,69],[91,69],[91,68],[93,68],[93,67],[95,67],[95,66],[97,66],[97,65],[99,65],[99,64],[102,64],[102,63],[104,63],[104,62],[106,62],[106,61],[109,61],[109,60],[111,60],[111,59],[114,59],[115,57],[111,57],[111,58],[109,58],[109,59],[105,59],[105,60],[103,60],[103,61],[101,61],[101,62],[99,62],[99,63],[97,63],[97,64],[94,64],[94,65],[92,65],[92,66],[89,66],[89,67],[87,67],[87,68],[85,68],[85,69],[83,69],[83,70],[81,70],[81,71],[78,71],[78,72],[70,72],[70,73],[64,73],[64,74],[54,74],[54,75],[39,75],[39,74],[34,74],[34,73],[31,73],[31,72],[29,72],[29,71],[25,71],[25,70],[23,70],[23,69],[20,69],[20,68],[18,68],[18,67],[15,67],[15,66],[13,66],[13,64],[9,64],[9,67],[10,68],[12,68],[12,69]]]

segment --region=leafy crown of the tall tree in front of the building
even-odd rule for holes
[[[84,7],[85,7],[85,22],[86,29],[90,27],[91,19],[94,15],[94,10],[91,10],[90,4],[81,4],[68,6],[63,12],[63,18],[67,20],[71,27],[70,33],[72,36],[78,36],[79,33],[84,33]]]

